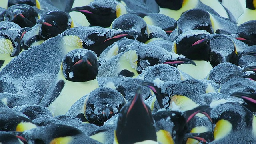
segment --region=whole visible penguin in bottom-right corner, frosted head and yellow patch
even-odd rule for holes
[[[211,144],[255,143],[256,118],[254,114],[235,102],[217,105],[210,111],[214,123],[214,141]]]

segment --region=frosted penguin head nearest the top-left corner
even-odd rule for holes
[[[36,12],[32,6],[26,4],[15,4],[10,6],[4,15],[4,21],[14,22],[21,28],[32,28],[36,24],[38,18],[38,12]]]

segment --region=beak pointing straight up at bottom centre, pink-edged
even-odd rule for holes
[[[129,112],[132,110],[132,108],[133,108],[135,105],[141,105],[141,104],[142,104],[143,107],[145,108],[146,112],[149,114],[148,108],[146,107],[146,104],[144,103],[143,98],[142,98],[141,87],[138,86],[138,88],[137,88],[137,90],[136,90],[136,93],[135,93],[135,96],[134,96],[134,98],[132,99],[131,105],[129,106],[128,111],[127,111],[127,113],[126,113],[126,117],[128,116]]]

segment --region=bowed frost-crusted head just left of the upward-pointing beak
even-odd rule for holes
[[[102,126],[109,118],[118,114],[125,104],[125,98],[117,90],[96,88],[85,102],[84,116],[88,122]]]

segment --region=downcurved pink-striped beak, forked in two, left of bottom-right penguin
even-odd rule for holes
[[[188,123],[198,113],[204,114],[212,122],[212,118],[207,112],[207,110],[209,110],[208,108],[210,108],[210,106],[202,105],[202,106],[193,108],[192,110],[185,111],[184,113],[185,113],[186,123]]]

